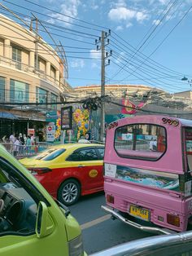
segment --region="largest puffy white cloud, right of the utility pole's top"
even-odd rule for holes
[[[138,22],[142,22],[147,19],[148,15],[142,11],[134,11],[126,7],[117,7],[109,11],[108,17],[113,21],[129,21],[136,19]]]

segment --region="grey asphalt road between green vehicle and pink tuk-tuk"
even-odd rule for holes
[[[69,207],[72,215],[81,225],[85,251],[93,254],[124,242],[153,236],[134,227],[129,227],[101,209],[105,205],[103,192],[82,196],[80,201]]]

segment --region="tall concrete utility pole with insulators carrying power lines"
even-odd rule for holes
[[[100,47],[97,46],[97,51],[101,51],[101,124],[100,124],[100,140],[103,141],[105,137],[105,67],[110,64],[110,60],[107,61],[106,59],[111,56],[112,51],[110,54],[105,50],[105,46],[109,44],[109,39],[107,38],[111,34],[111,30],[109,32],[102,31],[102,36],[98,40],[95,40],[95,43],[100,43]],[[107,43],[106,43],[107,39]]]

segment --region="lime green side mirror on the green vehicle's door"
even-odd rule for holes
[[[39,202],[35,232],[38,238],[48,236],[54,231],[54,222],[50,218],[48,207],[43,201]]]

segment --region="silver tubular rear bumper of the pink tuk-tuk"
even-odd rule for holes
[[[136,227],[144,232],[151,232],[155,234],[164,234],[164,235],[170,235],[172,233],[176,233],[172,230],[169,230],[167,228],[159,228],[159,227],[148,227],[148,226],[143,226],[138,223],[134,223],[133,221],[129,220],[128,218],[124,218],[120,213],[117,213],[115,210],[112,210],[111,208],[107,206],[101,206],[103,210],[105,210],[107,213],[111,214],[113,218],[118,218],[120,221],[123,223],[128,224],[129,226]]]

